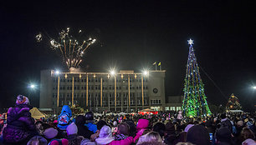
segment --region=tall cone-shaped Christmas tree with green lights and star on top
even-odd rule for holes
[[[187,59],[187,72],[184,84],[184,99],[182,103],[183,114],[187,117],[202,117],[210,115],[210,111],[206,95],[204,93],[204,85],[200,77],[197,58],[193,49],[192,39],[187,41],[190,45],[188,59]]]

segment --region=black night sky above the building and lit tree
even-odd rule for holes
[[[110,67],[166,70],[166,96],[182,95],[188,45],[194,40],[207,101],[227,103],[234,93],[244,109],[256,102],[256,45],[254,1],[86,1],[0,2],[0,107],[13,105],[22,93],[38,106],[42,69],[66,69],[44,38],[61,29],[82,29],[97,37],[81,67],[106,72]],[[202,71],[203,70],[203,71]],[[215,83],[215,85],[214,85]]]

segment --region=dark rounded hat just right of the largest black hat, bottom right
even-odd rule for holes
[[[219,141],[219,142],[225,142],[225,143],[230,143],[231,141],[231,132],[228,128],[226,127],[222,127],[222,128],[219,128],[216,132],[216,139]]]

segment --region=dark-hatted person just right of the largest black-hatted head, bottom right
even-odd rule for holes
[[[232,145],[232,133],[226,127],[218,128],[216,134],[216,145]],[[214,142],[214,141],[212,141]]]

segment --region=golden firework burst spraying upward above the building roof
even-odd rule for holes
[[[75,38],[70,35],[70,28],[67,28],[66,30],[59,32],[57,40],[53,38],[50,39],[51,47],[54,50],[59,50],[61,52],[63,60],[69,69],[71,67],[79,67],[79,64],[82,62],[84,52],[96,41],[96,39],[92,37],[89,37],[86,40],[80,39],[82,36],[81,30],[78,31],[78,36],[79,37]]]

